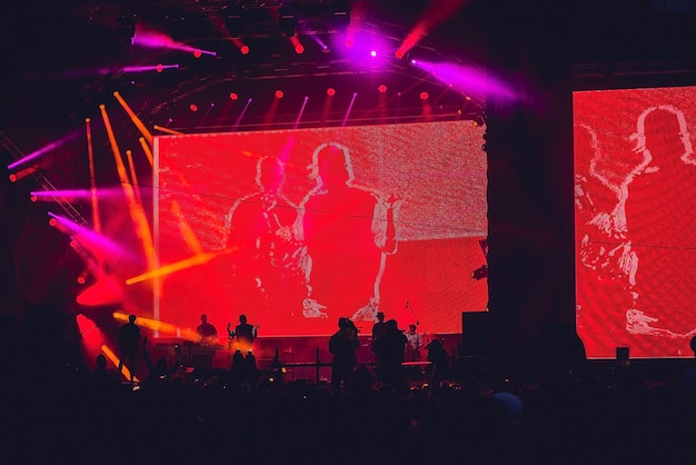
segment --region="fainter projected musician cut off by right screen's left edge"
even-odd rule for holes
[[[597,131],[588,125],[575,127],[575,155],[577,325],[580,334],[601,325],[610,334],[601,349],[613,353],[626,330],[636,281],[637,257],[627,237],[625,210],[629,178],[608,162]],[[596,311],[595,301],[616,305]]]

